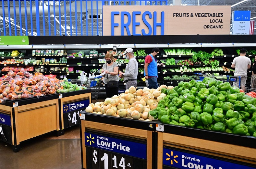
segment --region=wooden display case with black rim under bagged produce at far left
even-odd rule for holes
[[[59,95],[51,94],[19,100],[6,100],[0,104],[1,141],[20,150],[20,142],[59,131]]]

